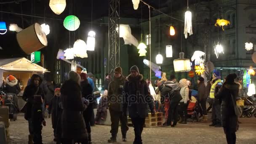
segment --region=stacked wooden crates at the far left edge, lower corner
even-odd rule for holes
[[[5,123],[5,136],[6,139],[9,138],[9,126],[10,126],[10,119],[9,119],[9,107],[8,106],[0,106],[0,121]]]

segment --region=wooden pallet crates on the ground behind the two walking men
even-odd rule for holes
[[[128,117],[128,125],[133,126],[131,118]],[[154,116],[149,113],[149,116],[145,120],[146,128],[152,128],[163,125],[163,112],[156,112]]]

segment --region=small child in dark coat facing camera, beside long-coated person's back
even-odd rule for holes
[[[58,125],[58,120],[61,117],[61,107],[59,107],[60,102],[61,102],[61,89],[56,88],[54,91],[54,96],[51,98],[51,102],[48,107],[48,114],[49,117],[51,116],[51,124],[53,128],[53,134],[54,134],[54,139],[53,141],[57,141],[58,136],[57,136],[57,125]]]

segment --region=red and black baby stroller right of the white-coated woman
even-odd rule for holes
[[[189,105],[187,107],[187,115],[192,119],[192,122],[195,120],[199,121],[199,109],[198,109],[198,101],[195,96],[191,96],[189,101]]]

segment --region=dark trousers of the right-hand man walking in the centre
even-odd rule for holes
[[[133,144],[142,144],[141,133],[143,131],[143,126],[145,124],[145,117],[131,117],[131,122],[133,123],[135,134]]]

